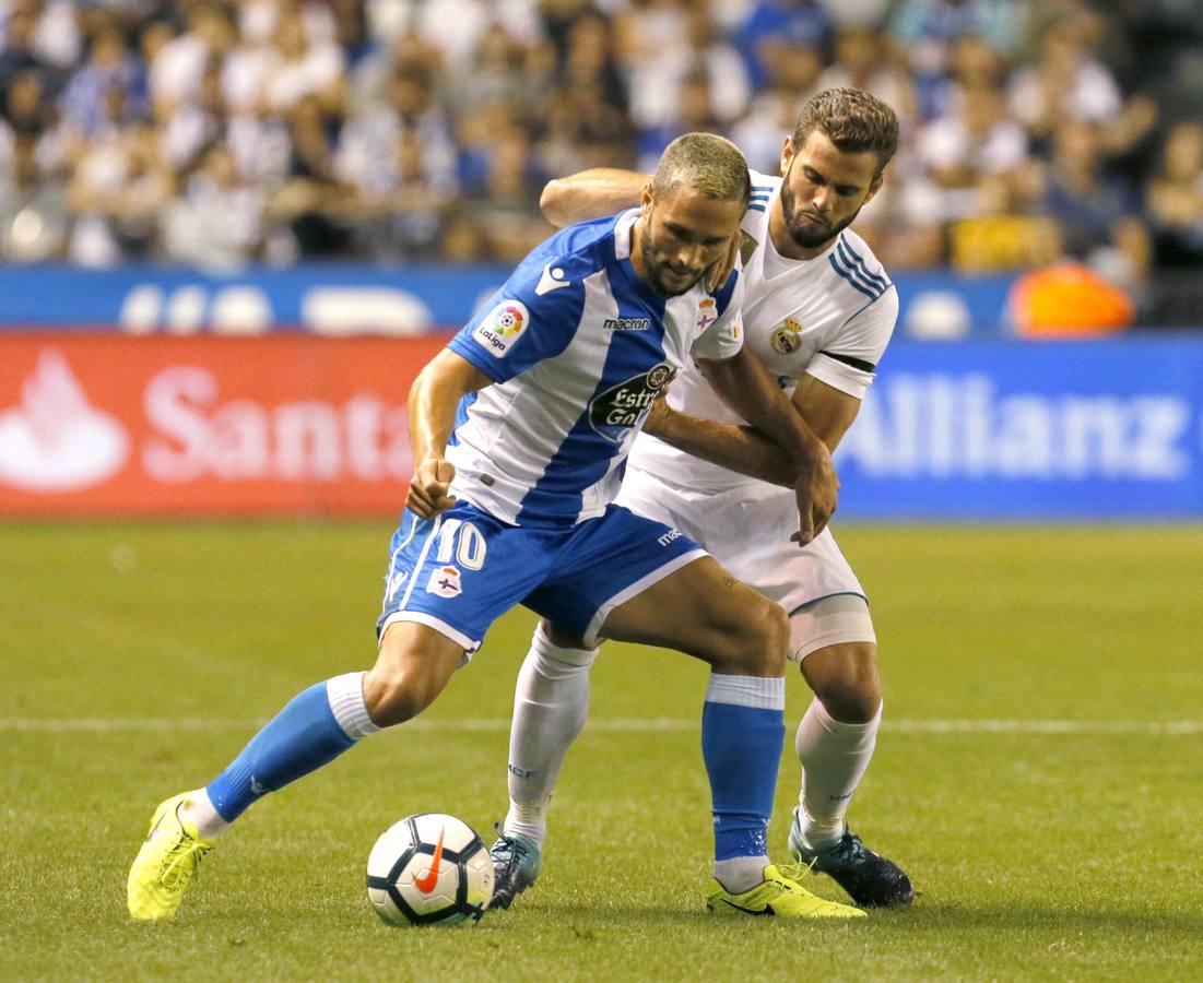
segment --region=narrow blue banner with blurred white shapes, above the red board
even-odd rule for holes
[[[226,272],[149,265],[7,266],[0,267],[0,331],[405,337],[464,324],[509,272],[496,265],[438,263]],[[900,274],[900,333],[996,333],[1006,320],[1013,279]]]

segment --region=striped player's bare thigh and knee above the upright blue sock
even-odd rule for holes
[[[701,556],[616,606],[602,633],[676,649],[718,671],[771,676],[784,664],[788,622],[777,604]]]

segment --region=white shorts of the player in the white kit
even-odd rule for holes
[[[798,507],[788,488],[757,482],[722,492],[689,490],[628,468],[615,501],[675,526],[729,574],[784,608],[792,658],[824,645],[877,640],[865,591],[831,531],[824,529],[804,547],[790,541],[798,531]],[[824,606],[816,602],[841,596],[848,603],[838,605],[838,617],[814,616]],[[864,604],[860,615],[854,598]]]

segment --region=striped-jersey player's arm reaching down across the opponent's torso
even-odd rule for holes
[[[780,446],[798,476],[793,487],[800,525],[793,538],[806,545],[823,532],[836,508],[840,481],[831,452],[748,349],[700,365],[719,397]]]

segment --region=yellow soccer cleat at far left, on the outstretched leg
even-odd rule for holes
[[[150,817],[150,831],[125,882],[125,900],[134,918],[143,922],[174,918],[201,860],[213,849],[214,845],[202,840],[196,827],[179,816],[180,806],[194,794],[172,795]]]

